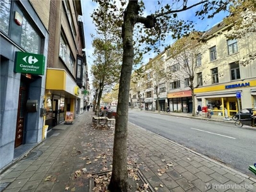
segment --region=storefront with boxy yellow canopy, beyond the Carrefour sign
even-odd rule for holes
[[[46,77],[46,118],[49,129],[65,121],[65,114],[71,112],[76,118],[77,108],[81,101],[80,88],[68,73],[59,68],[47,68]]]

